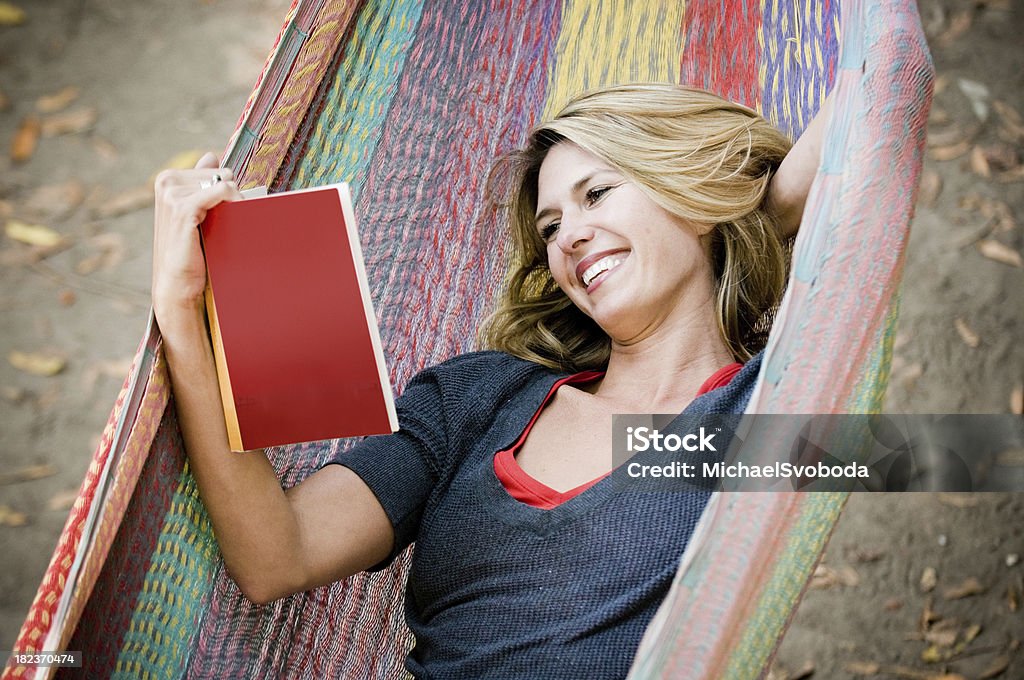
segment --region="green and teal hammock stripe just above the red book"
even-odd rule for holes
[[[358,200],[422,10],[421,0],[364,5],[293,187],[346,181]]]

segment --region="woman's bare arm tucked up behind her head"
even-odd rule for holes
[[[782,159],[768,185],[765,203],[778,219],[779,231],[786,239],[797,236],[800,219],[804,216],[807,195],[821,160],[821,138],[824,135],[825,121],[831,114],[831,101],[833,95],[829,94],[814,120]]]

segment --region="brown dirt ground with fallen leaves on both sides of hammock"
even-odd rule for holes
[[[0,1],[0,649],[144,329],[152,177],[223,147],[288,2],[12,4],[27,17],[6,25]],[[1024,3],[921,8],[939,78],[887,410],[1019,413]],[[773,677],[1024,677],[1022,519],[1020,494],[855,496]]]

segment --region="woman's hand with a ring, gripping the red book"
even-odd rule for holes
[[[164,170],[157,176],[153,307],[162,330],[177,313],[202,309],[206,261],[197,227],[210,208],[242,198],[231,171],[218,165],[217,157],[207,154],[193,170]]]

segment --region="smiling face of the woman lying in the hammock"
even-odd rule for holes
[[[669,213],[593,154],[553,146],[537,203],[552,277],[612,340],[635,343],[713,303],[700,240],[711,225]]]

